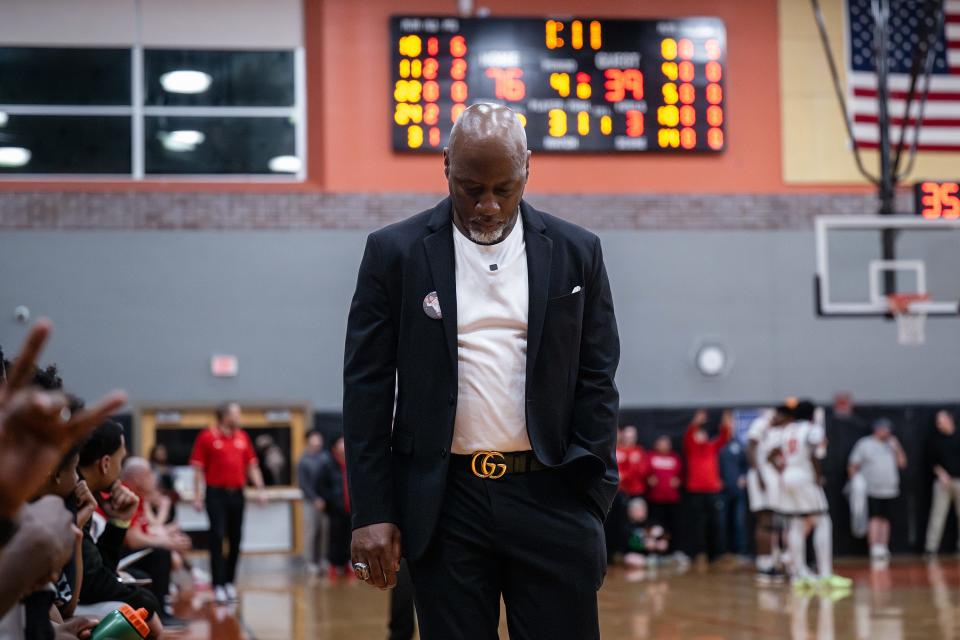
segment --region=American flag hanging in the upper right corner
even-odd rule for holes
[[[939,2],[934,2],[939,5]],[[888,31],[890,68],[891,144],[900,140],[904,109],[910,89],[913,55],[922,34],[928,32],[924,16],[930,0],[890,0]],[[847,90],[853,135],[867,149],[878,147],[877,75],[873,55],[873,13],[871,0],[847,0]],[[927,18],[936,28],[936,17]],[[947,0],[943,27],[937,34],[936,58],[930,77],[930,93],[920,129],[921,151],[960,151],[960,0]],[[913,140],[913,127],[920,111],[922,71],[917,93],[910,107],[907,139]]]

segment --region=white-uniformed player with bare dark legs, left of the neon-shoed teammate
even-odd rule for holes
[[[755,517],[757,580],[773,582],[783,578],[780,564],[780,531],[774,521],[780,501],[780,475],[770,463],[771,452],[780,445],[781,411],[768,409],[750,423],[747,430],[747,498]]]

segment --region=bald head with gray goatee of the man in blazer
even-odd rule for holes
[[[495,104],[464,110],[443,150],[453,222],[478,244],[507,237],[520,216],[530,172],[527,135],[513,111]]]

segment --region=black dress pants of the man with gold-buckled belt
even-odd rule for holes
[[[422,640],[598,640],[603,523],[582,482],[542,470],[481,479],[453,456],[437,530],[409,562]]]

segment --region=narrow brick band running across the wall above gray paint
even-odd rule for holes
[[[2,192],[0,229],[372,229],[439,193]],[[811,229],[824,214],[871,214],[872,194],[529,193],[591,229]],[[909,211],[909,194],[898,210]]]

